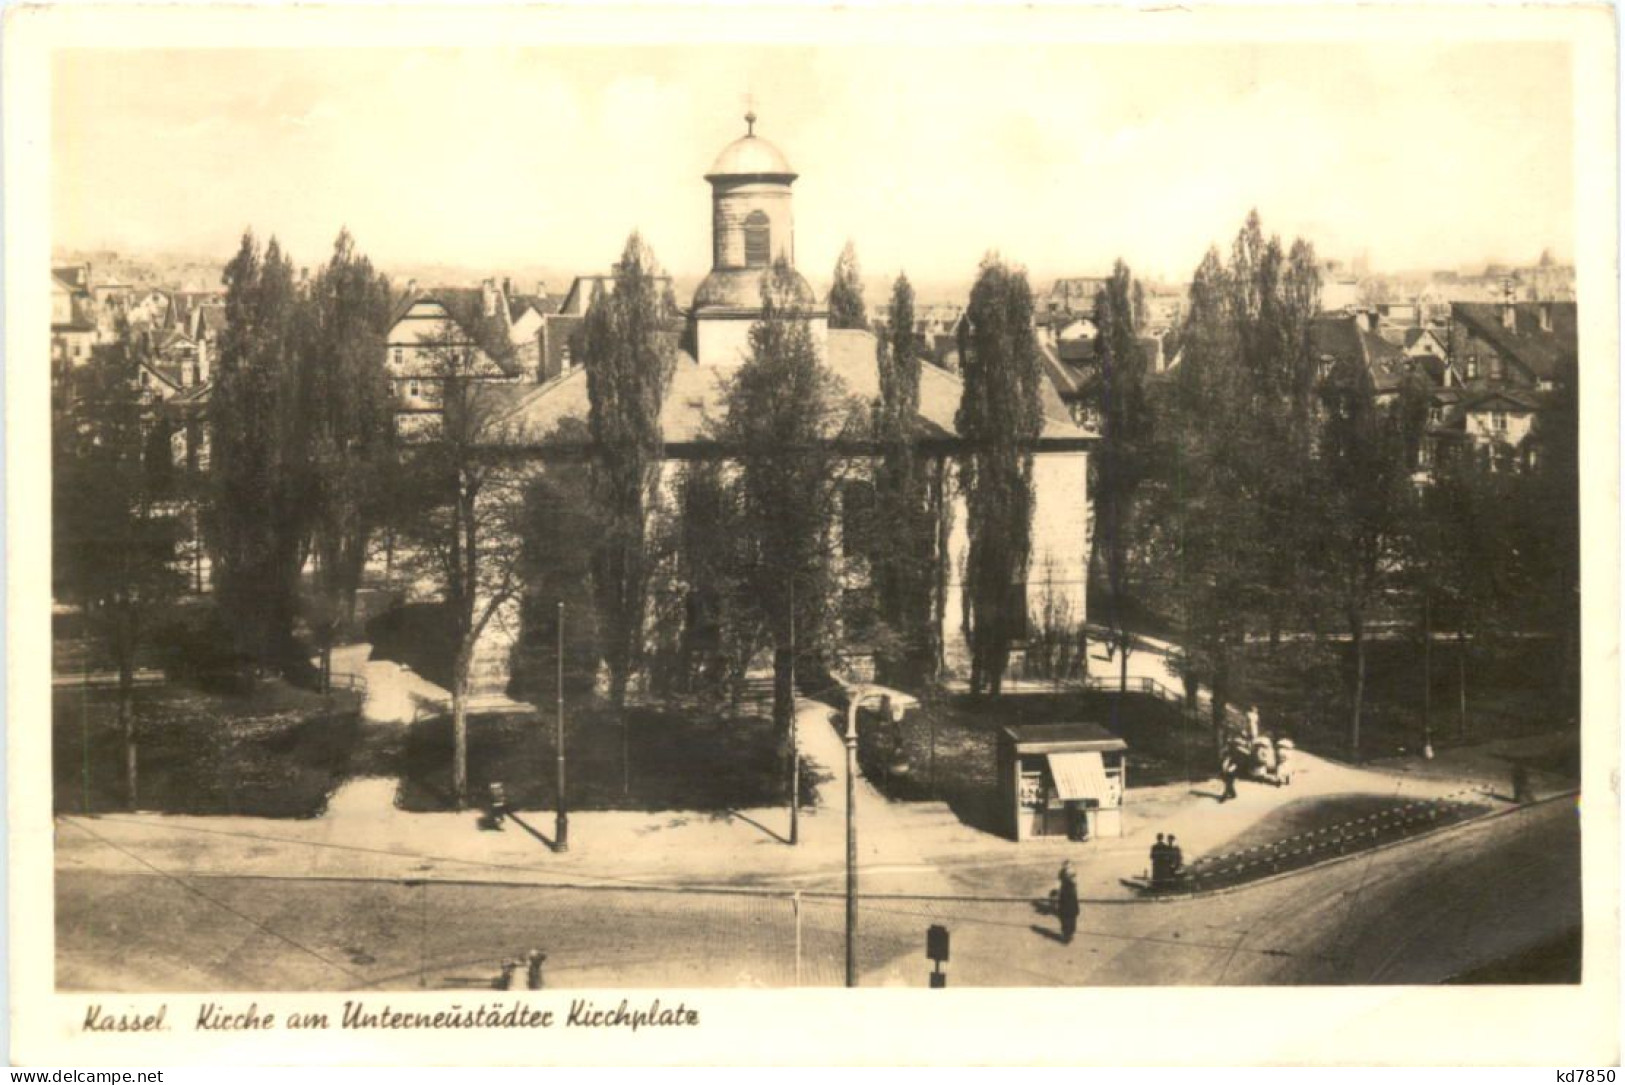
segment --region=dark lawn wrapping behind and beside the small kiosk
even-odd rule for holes
[[[998,731],[1022,723],[1098,723],[1128,742],[1128,781],[1144,788],[1212,775],[1212,741],[1202,726],[1146,694],[1098,690],[930,698],[900,724],[868,715],[858,728],[863,772],[894,799],[946,801],[967,825],[998,822]]]

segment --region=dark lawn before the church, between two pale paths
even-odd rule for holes
[[[566,716],[566,801],[572,811],[738,811],[790,801],[786,755],[770,720],[699,707],[629,707],[630,773],[622,789],[621,726],[603,702]],[[540,716],[481,715],[468,721],[468,786],[483,804],[500,781],[509,806],[557,806],[556,724]],[[801,802],[816,804],[830,767],[801,760]],[[447,811],[452,801],[452,723],[419,720],[406,734],[396,804]]]

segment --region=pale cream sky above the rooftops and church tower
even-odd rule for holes
[[[744,130],[795,187],[814,281],[1188,278],[1248,208],[1373,268],[1573,252],[1566,45],[1061,44],[72,50],[52,244],[226,260],[245,226],[320,263],[604,270],[640,229],[710,260],[702,174]]]

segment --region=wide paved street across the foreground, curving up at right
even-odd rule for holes
[[[72,832],[65,828],[63,833]],[[863,983],[1436,983],[1580,924],[1575,804],[1545,802],[1240,892],[1087,906],[1072,945],[1032,903],[866,898]],[[538,947],[549,986],[788,986],[786,893],[182,875],[136,853],[58,869],[63,989],[486,986]],[[801,908],[801,983],[842,979],[842,901]]]

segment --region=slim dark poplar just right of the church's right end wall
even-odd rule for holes
[[[1100,380],[1100,450],[1094,456],[1095,555],[1110,590],[1108,624],[1128,690],[1129,633],[1123,606],[1138,533],[1138,497],[1150,469],[1152,416],[1141,346],[1144,292],[1121,260],[1095,297],[1095,367]],[[1121,697],[1118,698],[1121,702]],[[1113,711],[1116,703],[1113,702]]]

